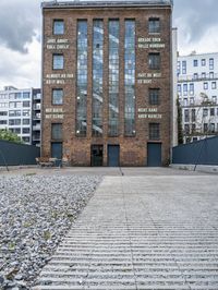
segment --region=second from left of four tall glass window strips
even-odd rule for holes
[[[93,136],[102,136],[104,21],[93,22]]]

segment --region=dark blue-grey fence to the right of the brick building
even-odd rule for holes
[[[218,136],[173,147],[172,164],[218,165]]]

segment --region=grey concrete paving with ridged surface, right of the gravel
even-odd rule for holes
[[[217,290],[217,176],[105,177],[33,289]]]

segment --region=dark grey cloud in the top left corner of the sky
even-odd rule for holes
[[[11,50],[27,53],[40,28],[40,1],[0,1],[0,41]]]

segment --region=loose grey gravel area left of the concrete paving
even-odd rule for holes
[[[0,289],[29,289],[101,178],[0,177]]]

